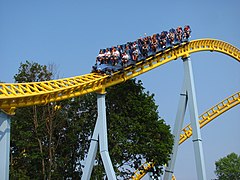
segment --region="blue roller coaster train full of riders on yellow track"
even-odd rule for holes
[[[179,34],[178,34],[179,35]],[[116,58],[112,59],[108,57],[107,60],[101,61],[101,60],[97,60],[97,64],[95,64],[92,67],[92,72],[96,72],[99,74],[107,74],[107,75],[112,75],[114,72],[120,71],[123,72],[125,68],[132,68],[135,67],[135,64],[137,62],[145,62],[147,58],[149,57],[154,57],[156,55],[156,53],[163,53],[165,50],[167,49],[172,49],[176,46],[181,46],[182,43],[187,43],[189,40],[189,38],[191,37],[191,29],[190,26],[185,26],[184,27],[184,32],[182,32],[182,34],[180,34],[179,37],[177,37],[177,33],[175,29],[170,29],[169,32],[168,31],[162,31],[161,34],[156,34],[156,38],[158,39],[158,43],[156,46],[154,46],[154,48],[151,46],[153,44],[148,44],[147,48],[145,47],[145,51],[143,51],[143,42],[141,40],[135,41],[135,42],[127,42],[127,44],[124,45],[120,45],[117,46],[117,50],[119,50],[119,52],[126,52],[129,55],[129,59],[126,63],[123,63],[122,60],[122,55],[120,55],[118,57],[118,59],[116,60]],[[154,36],[155,37],[155,36]],[[138,43],[137,46],[134,46],[133,44]],[[155,45],[155,44],[154,44]],[[116,47],[113,47],[116,49]],[[133,57],[134,55],[134,48],[138,49],[138,57],[137,60],[133,60],[136,59],[136,56]],[[107,48],[106,51],[112,51],[112,48]],[[100,54],[102,53],[106,53],[105,49],[100,50]],[[147,52],[146,52],[147,51]],[[102,56],[99,56],[102,57]],[[115,56],[114,56],[115,57]],[[97,57],[98,58],[98,57]],[[115,62],[117,62],[116,64],[113,64],[112,60],[114,60]],[[126,60],[124,60],[126,61]],[[100,62],[104,62],[103,64],[101,64]]]

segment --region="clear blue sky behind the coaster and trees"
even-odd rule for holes
[[[239,6],[238,0],[0,0],[0,81],[13,82],[26,60],[55,64],[60,78],[83,75],[91,71],[100,48],[185,24],[192,27],[192,39],[220,39],[240,48]],[[199,114],[240,90],[236,60],[215,52],[195,53],[191,59]],[[160,116],[173,126],[183,81],[182,60],[138,79],[155,94]],[[202,129],[207,179],[215,178],[216,160],[231,152],[240,154],[239,127],[237,106]],[[178,151],[177,179],[196,179],[193,154],[190,139]]]

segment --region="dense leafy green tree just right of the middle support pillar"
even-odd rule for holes
[[[128,179],[144,161],[154,160],[154,175],[160,176],[173,139],[158,116],[154,95],[144,91],[141,81],[128,80],[107,89],[106,107],[109,152],[117,175]]]

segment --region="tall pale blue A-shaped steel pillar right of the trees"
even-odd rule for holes
[[[168,167],[165,170],[164,180],[171,180],[174,165],[177,156],[178,144],[180,133],[183,125],[183,119],[186,111],[186,106],[188,104],[191,127],[192,127],[192,138],[193,138],[193,147],[194,155],[197,169],[198,180],[206,180],[206,169],[204,163],[203,147],[202,147],[202,138],[198,120],[198,108],[196,100],[195,85],[193,79],[193,70],[192,64],[189,57],[183,58],[184,64],[184,84],[181,92],[180,103],[178,107],[177,117],[174,124],[174,146],[173,152],[171,155],[171,160],[168,163]]]

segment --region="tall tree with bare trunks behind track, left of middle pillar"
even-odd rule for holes
[[[18,83],[50,80],[52,69],[26,61],[14,78]],[[94,126],[91,119],[97,114],[92,96],[16,110],[11,121],[11,179],[80,179]]]

